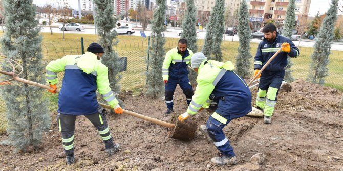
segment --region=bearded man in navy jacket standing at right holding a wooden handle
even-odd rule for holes
[[[276,31],[276,26],[268,23],[262,30],[264,39],[259,43],[254,59],[254,76],[266,62],[282,47],[282,51],[262,71],[259,77],[260,84],[256,97],[256,106],[263,111],[264,123],[271,123],[271,116],[274,112],[278,90],[285,77],[285,67],[288,56],[296,58],[300,51],[293,42]],[[259,78],[258,77],[258,78]]]

